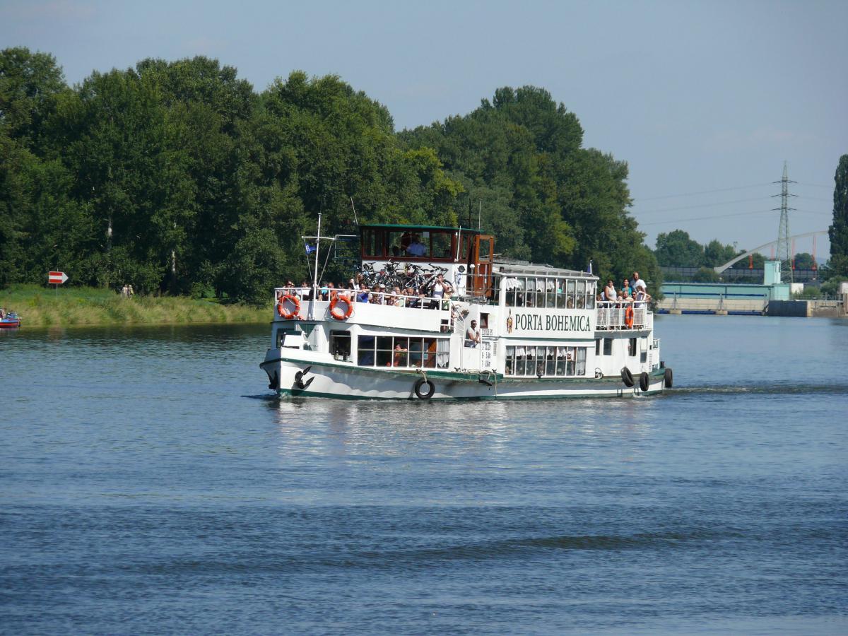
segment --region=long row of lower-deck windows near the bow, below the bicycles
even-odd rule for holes
[[[449,362],[449,350],[448,338],[360,336],[356,364],[446,369]]]

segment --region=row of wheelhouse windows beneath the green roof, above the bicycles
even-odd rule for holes
[[[424,230],[362,230],[362,257],[365,259],[454,260],[457,256],[455,232]],[[459,260],[468,259],[471,235],[460,242]]]

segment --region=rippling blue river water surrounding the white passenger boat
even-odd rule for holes
[[[0,333],[0,632],[846,633],[848,321],[662,397],[268,399],[267,326]]]

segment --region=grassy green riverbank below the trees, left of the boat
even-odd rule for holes
[[[185,296],[122,298],[109,289],[38,285],[0,290],[0,307],[16,311],[24,327],[257,323],[271,320],[268,307],[220,304]]]

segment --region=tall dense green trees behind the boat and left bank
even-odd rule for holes
[[[659,285],[627,178],[535,86],[396,132],[334,75],[255,92],[215,59],[145,59],[68,86],[49,53],[0,52],[0,287],[60,269],[79,285],[258,302],[306,276],[300,237],[318,212],[322,232],[355,232],[352,202],[360,222],[479,216],[505,256]]]

